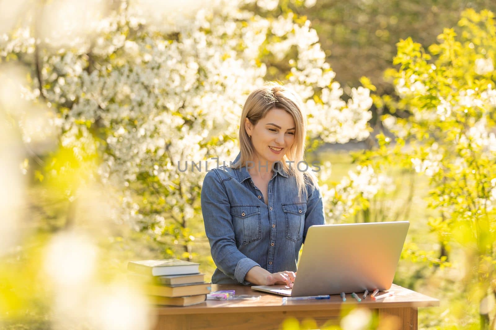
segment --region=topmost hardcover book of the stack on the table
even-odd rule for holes
[[[143,275],[184,275],[198,274],[200,264],[179,259],[129,261],[127,270]]]

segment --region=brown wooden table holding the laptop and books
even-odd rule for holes
[[[321,327],[339,324],[342,308],[363,307],[377,314],[379,324],[386,329],[417,329],[419,307],[439,306],[439,300],[393,284],[389,291],[394,296],[372,301],[370,296],[358,303],[351,295],[346,302],[339,295],[329,300],[305,300],[282,302],[282,296],[254,291],[250,286],[236,284],[212,284],[212,291],[236,290],[236,295],[260,296],[258,300],[207,300],[187,307],[155,307],[157,318],[155,330],[272,330],[279,329],[282,322],[293,317],[300,322],[311,318]],[[359,292],[357,292],[358,294]],[[379,292],[382,294],[384,292]],[[359,293],[363,294],[363,292]],[[386,326],[387,323],[387,326]]]

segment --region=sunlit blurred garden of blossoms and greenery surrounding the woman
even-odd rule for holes
[[[198,262],[210,281],[191,162],[234,160],[246,97],[275,80],[304,100],[326,222],[411,222],[394,283],[441,301],[419,328],[494,327],[495,12],[0,0],[0,328],[153,329],[129,260]],[[376,327],[343,312],[340,329]]]

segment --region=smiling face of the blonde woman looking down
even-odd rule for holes
[[[295,120],[286,110],[273,108],[254,126],[248,118],[245,122],[261,165],[280,161],[295,141]]]

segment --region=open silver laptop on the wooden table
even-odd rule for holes
[[[408,221],[310,226],[293,288],[251,288],[292,297],[388,290],[409,226]]]

